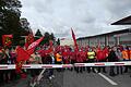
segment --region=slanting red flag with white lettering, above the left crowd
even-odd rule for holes
[[[40,42],[43,39],[44,39],[44,37],[40,37],[40,38],[37,39],[36,41],[32,42],[32,44],[28,46],[27,50],[26,50],[27,53],[28,53],[28,54],[34,53],[35,48],[39,45],[39,42]]]

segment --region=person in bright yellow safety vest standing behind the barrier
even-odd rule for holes
[[[93,51],[93,49],[90,48],[90,50],[88,50],[88,52],[87,52],[87,62],[88,62],[88,63],[95,62],[95,55],[96,55],[95,51]],[[92,70],[93,70],[93,72],[95,73],[94,67],[92,67]],[[87,72],[91,73],[91,66],[87,67]]]

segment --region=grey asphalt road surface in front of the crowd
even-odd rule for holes
[[[76,73],[66,70],[64,72],[55,71],[55,78],[48,79],[47,72],[36,87],[131,87],[131,71],[124,74],[109,76],[108,73]],[[9,84],[3,87],[29,87],[27,78]]]

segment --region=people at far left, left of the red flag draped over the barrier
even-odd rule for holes
[[[14,64],[16,60],[15,49],[1,48],[0,64]],[[0,84],[16,79],[15,70],[0,70]]]

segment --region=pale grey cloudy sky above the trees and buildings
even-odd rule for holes
[[[56,37],[76,38],[98,35],[126,26],[111,23],[131,14],[131,0],[21,0],[22,17],[31,23],[33,32],[53,33]]]

